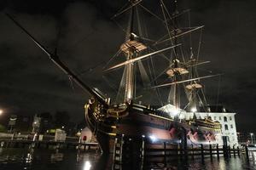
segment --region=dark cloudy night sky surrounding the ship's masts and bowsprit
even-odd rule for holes
[[[256,2],[178,2],[178,8],[191,9],[192,25],[205,26],[201,57],[211,61],[212,72],[224,74],[219,83],[218,78],[207,82],[209,101],[215,104],[220,87],[218,101],[237,113],[238,131],[255,132]],[[68,111],[73,121],[80,122],[89,96],[72,86],[67,76],[4,13],[15,16],[50,51],[57,48],[61,59],[80,73],[108,61],[118,50],[124,35],[110,18],[125,3],[125,0],[2,0],[0,107],[5,115]],[[108,92],[101,66],[86,71],[81,78],[90,87]]]

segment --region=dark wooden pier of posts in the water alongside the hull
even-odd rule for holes
[[[219,159],[224,157],[240,157],[241,152],[245,152],[248,157],[247,147],[241,150],[237,146],[218,144],[173,144],[168,142],[152,142],[150,139],[121,136],[115,140],[113,150],[113,169],[121,167],[131,167],[137,169],[143,167],[148,162],[164,163],[175,160],[189,159]]]

